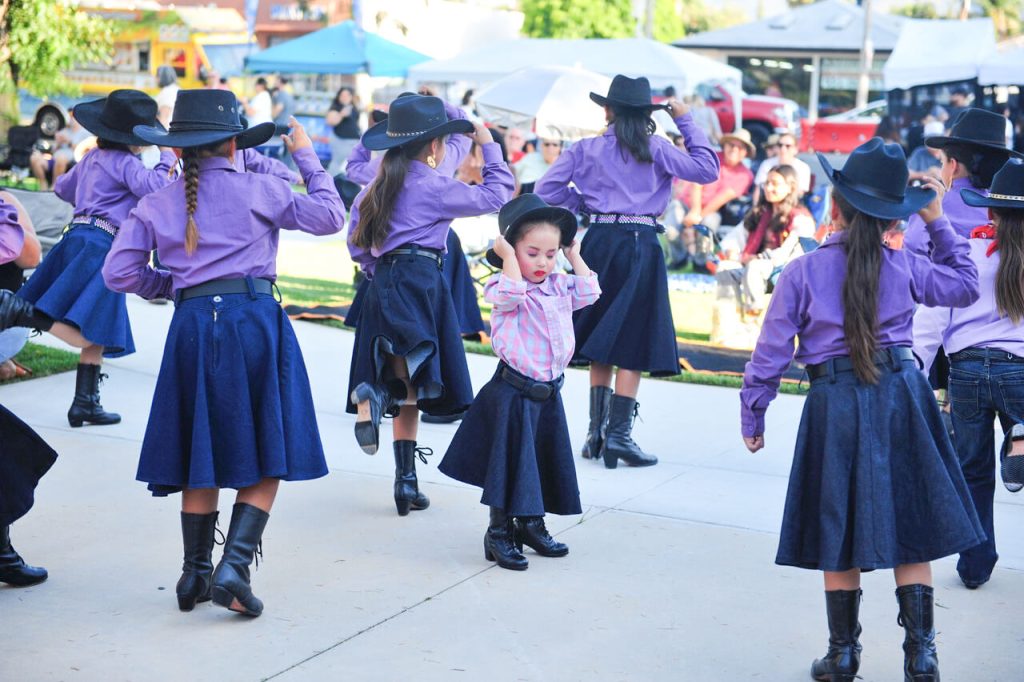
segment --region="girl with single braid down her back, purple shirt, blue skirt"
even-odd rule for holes
[[[327,475],[309,379],[288,315],[274,300],[279,230],[331,235],[344,210],[308,136],[292,121],[285,145],[306,183],[239,172],[239,148],[262,144],[272,123],[246,129],[226,90],[181,90],[170,131],[136,128],[181,148],[183,178],[146,197],[125,221],[103,267],[114,290],[174,294],[175,310],[142,441],[137,478],[154,496],[181,496],[184,564],[178,607],[211,597],[256,616],[249,565],[281,480]],[[159,249],[162,270],[150,267]],[[214,570],[220,488],[238,489],[224,555]]]

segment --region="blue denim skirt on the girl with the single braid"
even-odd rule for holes
[[[273,296],[180,302],[167,333],[138,480],[166,496],[327,473],[302,352]]]

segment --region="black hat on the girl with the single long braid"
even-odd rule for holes
[[[160,146],[205,146],[236,138],[246,150],[262,144],[273,136],[272,122],[247,128],[242,122],[242,106],[230,90],[178,90],[170,129],[135,126],[135,134],[147,144]]]

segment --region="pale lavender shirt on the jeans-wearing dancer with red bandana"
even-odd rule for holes
[[[988,255],[991,240],[971,240],[971,260],[978,267],[981,296],[966,308],[947,306],[918,308],[913,315],[913,352],[925,364],[935,361],[942,346],[946,353],[966,348],[997,348],[1024,357],[1024,322],[1014,323],[999,314],[995,304],[995,273],[999,252]]]

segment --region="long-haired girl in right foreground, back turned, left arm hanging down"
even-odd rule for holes
[[[785,268],[740,391],[743,442],[765,444],[764,413],[794,357],[811,388],[782,518],[780,565],[824,571],[828,651],[811,675],[852,682],[860,665],[860,571],[894,568],[904,677],[938,682],[930,561],[985,538],[925,375],[910,351],[915,304],[966,306],[978,270],[942,215],[942,185],[908,188],[898,144],[872,138],[833,183],[838,231]],[[931,261],[883,246],[910,213],[924,220]]]

